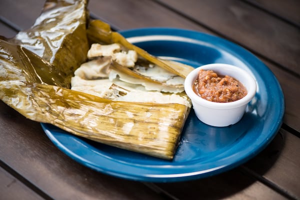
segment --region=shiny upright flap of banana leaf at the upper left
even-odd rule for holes
[[[74,70],[86,60],[89,48],[86,5],[87,0],[47,0],[32,27],[18,32],[8,41],[54,65],[69,87]]]

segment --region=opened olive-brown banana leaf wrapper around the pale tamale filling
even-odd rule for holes
[[[189,107],[112,101],[69,89],[73,71],[86,61],[88,41],[118,41],[151,62],[186,75],[185,67],[181,72],[177,65],[156,59],[112,32],[108,24],[98,20],[89,23],[86,3],[47,0],[30,29],[14,38],[0,37],[0,99],[31,120],[105,144],[172,159]],[[113,35],[113,39],[99,32]]]

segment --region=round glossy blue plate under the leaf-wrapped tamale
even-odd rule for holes
[[[51,141],[64,153],[97,171],[141,181],[184,181],[236,167],[260,152],[278,131],[284,99],[273,73],[253,54],[222,38],[174,28],[121,31],[128,40],[156,56],[194,67],[222,62],[237,65],[255,77],[257,92],[242,119],[228,127],[200,122],[191,110],[172,161],[111,147],[42,123]]]

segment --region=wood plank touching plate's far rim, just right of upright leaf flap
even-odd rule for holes
[[[151,0],[89,0],[88,9],[118,29],[163,26],[205,30]]]

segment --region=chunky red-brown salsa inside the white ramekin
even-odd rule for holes
[[[233,77],[203,69],[200,69],[194,81],[193,90],[197,95],[213,102],[231,102],[247,94],[245,86]]]

